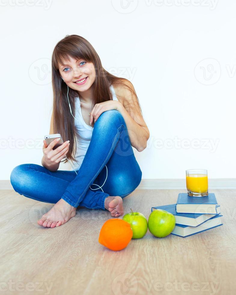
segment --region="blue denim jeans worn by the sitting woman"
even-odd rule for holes
[[[108,110],[99,116],[84,160],[76,172],[77,175],[74,170],[51,172],[37,164],[21,164],[12,170],[10,179],[16,192],[46,203],[63,199],[74,207],[105,210],[106,197],[126,197],[139,185],[142,171],[119,111]],[[104,192],[100,188],[91,190],[90,185],[98,188],[93,183],[103,185]]]

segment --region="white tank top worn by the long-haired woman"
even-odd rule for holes
[[[113,86],[110,86],[110,90],[112,92],[112,99],[118,101],[115,90]],[[78,120],[75,120],[75,128],[77,129],[77,132],[79,134],[78,138],[76,137],[76,152],[75,152],[75,161],[72,162],[72,165],[75,170],[78,170],[84,160],[84,156],[87,152],[88,146],[90,144],[90,140],[92,137],[92,130],[93,127],[87,125],[84,122],[81,107],[80,107],[80,99],[79,97],[75,98],[75,118]]]

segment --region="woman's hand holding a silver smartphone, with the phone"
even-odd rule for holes
[[[54,137],[55,139],[52,139]],[[66,156],[67,152],[69,151],[70,143],[68,141],[63,143],[63,140],[60,134],[45,135],[44,138],[45,138],[43,141],[44,163],[46,163],[46,165],[48,166],[54,166],[58,164]],[[59,139],[59,141],[57,141],[57,139]]]

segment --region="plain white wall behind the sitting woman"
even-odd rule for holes
[[[208,169],[209,178],[235,178],[234,1],[0,6],[0,179],[22,163],[41,165],[52,107],[50,59],[67,34],[86,38],[106,70],[133,83],[150,130],[146,150],[134,149],[143,179],[184,178],[193,168]]]

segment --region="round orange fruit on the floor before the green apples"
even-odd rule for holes
[[[113,251],[124,249],[130,242],[133,231],[130,224],[123,219],[108,219],[102,226],[98,241]]]

